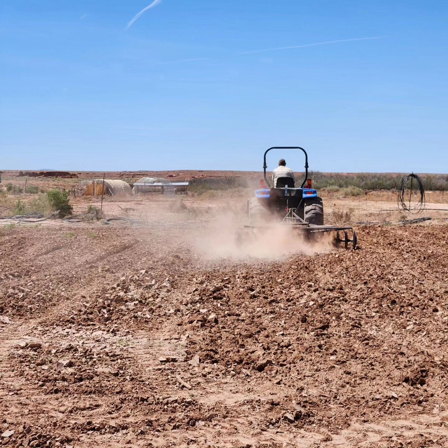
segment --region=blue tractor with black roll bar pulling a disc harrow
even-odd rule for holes
[[[294,185],[291,177],[280,177],[276,185],[270,185],[266,177],[266,155],[272,149],[298,149],[305,154],[305,178],[300,186]],[[356,232],[351,227],[336,227],[325,225],[323,220],[323,202],[319,198],[317,190],[312,188],[308,179],[308,155],[299,146],[273,146],[264,153],[263,163],[264,185],[255,190],[255,196],[247,203],[247,211],[250,225],[245,228],[265,228],[270,223],[280,222],[293,226],[297,233],[304,234],[307,238],[318,237],[319,234],[336,232],[336,244],[344,243],[348,247],[353,243],[353,249],[357,246]],[[344,233],[344,239],[339,232]],[[349,232],[353,233],[352,239]]]

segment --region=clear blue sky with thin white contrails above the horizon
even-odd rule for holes
[[[448,172],[447,2],[149,4],[2,0],[0,169]]]

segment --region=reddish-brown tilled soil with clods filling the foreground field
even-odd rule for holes
[[[196,226],[0,230],[2,444],[448,446],[448,226],[269,261]]]

